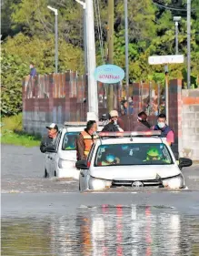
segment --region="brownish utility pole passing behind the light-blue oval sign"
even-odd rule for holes
[[[108,63],[114,64],[114,0],[108,0]],[[108,87],[108,110],[114,108],[114,86]]]

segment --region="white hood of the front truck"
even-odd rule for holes
[[[106,166],[90,169],[90,175],[109,180],[145,180],[173,177],[180,174],[177,165]]]

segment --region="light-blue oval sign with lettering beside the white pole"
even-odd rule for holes
[[[124,70],[115,65],[103,65],[95,68],[95,80],[104,84],[115,84],[124,79]]]

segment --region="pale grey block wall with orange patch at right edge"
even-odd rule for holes
[[[180,155],[199,160],[199,89],[183,89],[182,91]]]

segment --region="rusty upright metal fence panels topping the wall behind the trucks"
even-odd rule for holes
[[[130,87],[130,96],[133,97],[134,114],[145,111],[148,116],[156,117],[164,112],[164,87],[160,84],[134,83]],[[108,85],[98,83],[99,118],[107,113]],[[69,108],[71,113],[79,111],[80,120],[85,120],[87,112],[87,77],[78,76],[77,72],[68,71],[63,74],[25,77],[24,100],[30,98],[65,98],[65,102],[72,102]],[[121,112],[121,101],[124,97],[122,84],[114,85],[114,109]],[[124,98],[123,98],[124,99]],[[72,109],[73,108],[73,109]]]

